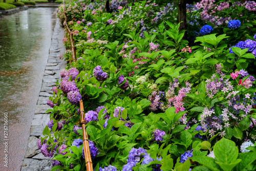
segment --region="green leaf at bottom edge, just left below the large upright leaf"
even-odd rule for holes
[[[197,161],[198,163],[202,164],[203,166],[208,167],[213,171],[220,171],[219,166],[215,163],[215,159],[207,156],[195,156],[191,158],[192,161]]]

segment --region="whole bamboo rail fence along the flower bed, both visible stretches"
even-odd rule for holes
[[[76,47],[74,46],[74,39],[73,39],[73,33],[70,31],[69,26],[67,24],[67,16],[64,11],[64,25],[66,26],[69,36],[70,36],[70,42],[71,42],[71,57],[72,60],[75,61],[76,59]],[[86,132],[86,121],[84,120],[84,110],[83,110],[83,102],[82,99],[80,100],[80,117],[81,117],[81,125],[82,125],[82,137],[83,137],[83,152],[84,152],[84,158],[86,160],[86,170],[87,171],[93,171],[93,162],[91,158],[90,148],[89,148],[89,139],[88,134]]]

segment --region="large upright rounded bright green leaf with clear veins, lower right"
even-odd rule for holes
[[[236,143],[226,138],[222,138],[214,146],[214,155],[220,163],[234,163],[238,157]]]

